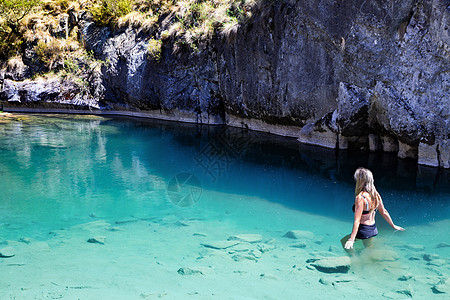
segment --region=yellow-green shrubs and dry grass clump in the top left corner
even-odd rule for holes
[[[78,39],[76,24],[69,24],[68,28],[61,24],[64,25],[63,20],[68,18],[69,12],[77,13],[87,7],[89,2],[86,0],[40,0],[18,22],[14,34],[0,10],[0,47],[8,50],[0,53],[1,68],[12,74],[25,73],[25,79],[47,76],[70,79],[81,90],[86,89],[87,74],[100,72],[106,62],[86,51]],[[4,40],[13,42],[2,44]],[[25,51],[28,56],[26,65]]]

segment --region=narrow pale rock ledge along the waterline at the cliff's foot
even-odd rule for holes
[[[153,111],[133,111],[133,110],[104,110],[92,107],[79,107],[74,105],[65,105],[61,103],[52,103],[45,105],[31,105],[31,107],[26,107],[22,105],[10,106],[11,103],[0,102],[3,111],[11,113],[42,113],[42,114],[91,114],[99,116],[127,116],[127,117],[137,117],[137,118],[149,118],[158,119],[165,121],[183,122],[183,123],[194,123],[194,124],[206,124],[206,125],[223,125],[222,122],[215,122],[214,120],[208,122],[199,122],[198,116],[194,113],[180,112],[173,110],[171,112],[162,112],[158,110]],[[254,131],[260,131],[270,134],[275,134],[284,137],[296,138],[300,143],[307,145],[315,145],[330,149],[348,149],[348,143],[352,143],[358,138],[348,138],[343,137],[339,133],[334,132],[332,129],[327,128],[326,130],[317,129],[314,126],[286,126],[286,125],[276,125],[267,124],[261,120],[249,120],[242,119],[238,117],[229,116],[228,126],[244,128]],[[401,142],[396,142],[395,139],[389,136],[377,136],[369,135],[367,137],[370,152],[383,151],[390,153],[398,153],[399,158],[415,158],[418,159],[419,165],[431,166],[431,167],[442,167],[449,168],[450,165],[450,152],[448,151],[448,140],[442,140],[439,143],[428,145],[426,143],[420,143],[417,147],[411,147],[407,144]],[[351,149],[351,148],[350,148]],[[364,151],[367,149],[361,147]],[[411,154],[412,153],[412,154]],[[408,155],[409,154],[409,155]]]

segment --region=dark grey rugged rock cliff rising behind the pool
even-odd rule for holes
[[[151,34],[161,37],[169,17]],[[235,32],[195,51],[166,37],[159,60],[148,32],[98,27],[86,11],[76,19],[106,62],[89,74],[89,95],[2,73],[5,107],[59,102],[225,123],[450,167],[448,0],[262,0]]]

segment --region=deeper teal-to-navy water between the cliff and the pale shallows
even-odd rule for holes
[[[236,128],[118,117],[24,115],[0,123],[0,137],[0,242],[46,241],[54,230],[99,219],[205,218],[214,215],[206,205],[221,205],[210,191],[321,216],[327,221],[314,226],[328,230],[333,220],[348,222],[349,233],[359,166],[373,170],[397,225],[450,219],[450,173],[392,155],[336,153]],[[386,222],[377,223],[390,232]],[[450,242],[448,229],[427,238]]]

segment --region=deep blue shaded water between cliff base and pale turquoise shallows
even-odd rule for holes
[[[166,166],[165,178],[189,171],[205,189],[257,196],[342,219],[351,217],[353,173],[366,167],[374,173],[391,214],[406,215],[403,219],[409,224],[449,217],[450,172],[418,166],[416,161],[398,159],[396,154],[335,151],[240,128],[119,120],[146,130],[157,128],[182,151],[191,153],[187,158],[190,162]]]

